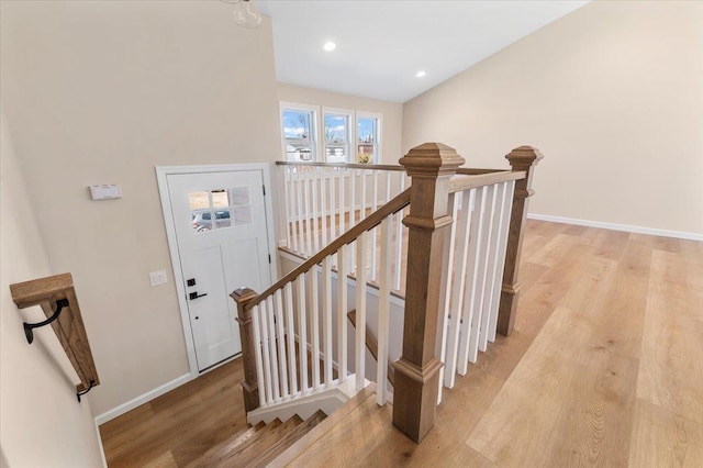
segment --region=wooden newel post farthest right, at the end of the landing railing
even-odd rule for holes
[[[521,283],[517,281],[517,267],[523,244],[523,226],[527,218],[527,199],[535,193],[532,189],[532,177],[534,175],[532,169],[543,157],[539,149],[532,146],[520,146],[505,156],[513,171],[524,170],[527,172],[527,177],[515,181],[513,210],[510,218],[503,288],[498,311],[498,332],[505,336],[511,334],[515,325],[515,310],[517,309],[521,289]]]

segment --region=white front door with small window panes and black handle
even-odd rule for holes
[[[168,192],[198,370],[242,352],[236,304],[271,283],[260,170],[169,174]]]

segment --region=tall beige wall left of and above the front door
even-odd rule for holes
[[[81,300],[101,414],[189,371],[154,167],[278,158],[271,24],[237,27],[216,1],[1,5],[3,107],[52,271]],[[94,183],[123,198],[91,201]]]

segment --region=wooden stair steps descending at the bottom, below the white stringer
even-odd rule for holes
[[[297,414],[281,422],[260,422],[243,434],[231,437],[208,450],[189,467],[264,467],[284,453],[327,417],[317,411],[303,421]]]

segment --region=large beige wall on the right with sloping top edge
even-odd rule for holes
[[[403,151],[545,155],[531,212],[703,234],[703,2],[593,2],[406,102]]]

